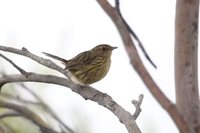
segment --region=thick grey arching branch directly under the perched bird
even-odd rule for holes
[[[99,105],[104,106],[113,112],[119,120],[126,126],[130,133],[140,133],[133,116],[117,104],[109,95],[102,93],[90,86],[83,86],[70,82],[66,78],[61,78],[53,75],[42,75],[30,73],[28,77],[20,74],[4,75],[0,77],[0,84],[13,83],[13,82],[42,82],[57,84],[69,87],[73,92],[81,95],[84,99],[97,102]]]

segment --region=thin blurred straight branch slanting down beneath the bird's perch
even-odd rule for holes
[[[21,86],[28,91],[32,96],[35,97],[35,99],[41,104],[41,106],[43,106],[48,113],[50,113],[52,115],[52,117],[54,119],[56,119],[61,126],[63,126],[67,131],[69,131],[70,133],[75,133],[71,128],[69,128],[57,115],[56,113],[34,92],[32,91],[30,88],[28,88],[24,83],[21,84]]]

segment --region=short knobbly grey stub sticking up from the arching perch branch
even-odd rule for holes
[[[138,101],[132,100],[132,104],[135,106],[135,109],[136,109],[135,113],[133,114],[133,117],[135,118],[135,120],[137,119],[137,117],[140,115],[140,112],[142,111],[140,107],[141,107],[143,98],[144,98],[144,95],[140,94]]]

